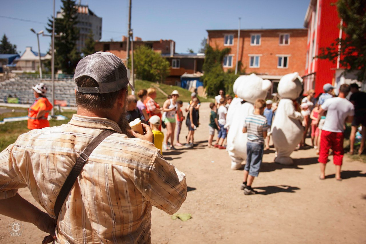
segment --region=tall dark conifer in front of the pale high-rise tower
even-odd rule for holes
[[[63,18],[55,19],[55,34],[60,35],[55,38],[55,69],[73,74],[76,64],[81,59],[76,48],[76,41],[79,39],[79,28],[76,27],[77,8],[75,1],[61,0],[61,2]],[[47,31],[52,33],[52,19],[48,19],[48,27]]]

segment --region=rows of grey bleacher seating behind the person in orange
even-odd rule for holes
[[[21,103],[32,104],[34,95],[32,86],[38,83],[46,84],[48,91],[46,96],[51,101],[52,81],[51,79],[21,78],[15,77],[0,81],[0,101],[9,95],[16,95]],[[75,106],[75,83],[72,79],[55,80],[55,100],[66,100],[68,106]]]

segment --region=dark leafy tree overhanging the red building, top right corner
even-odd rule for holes
[[[318,58],[334,63],[340,55],[340,66],[349,73],[357,71],[358,80],[366,80],[366,4],[364,0],[338,0],[338,16],[343,20],[345,37],[337,38],[329,47],[321,48]],[[340,44],[340,49],[338,45]]]

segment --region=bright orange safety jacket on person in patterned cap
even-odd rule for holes
[[[45,97],[38,97],[33,105],[28,108],[28,129],[41,129],[49,127],[48,114],[52,109],[52,104]],[[46,110],[46,114],[37,119],[36,116],[39,111]]]

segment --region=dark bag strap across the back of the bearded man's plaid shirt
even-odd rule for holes
[[[54,211],[56,220],[59,217],[59,213],[61,210],[62,205],[65,202],[66,197],[68,196],[72,186],[74,185],[76,179],[78,178],[78,175],[80,174],[80,171],[84,167],[86,161],[88,160],[91,152],[108,136],[110,136],[113,133],[117,133],[114,130],[104,130],[102,131],[98,136],[96,136],[90,144],[84,149],[83,152],[79,155],[78,159],[76,160],[76,163],[74,167],[72,167],[70,174],[66,178],[66,181],[64,185],[61,187],[61,191],[59,195],[57,196]]]

